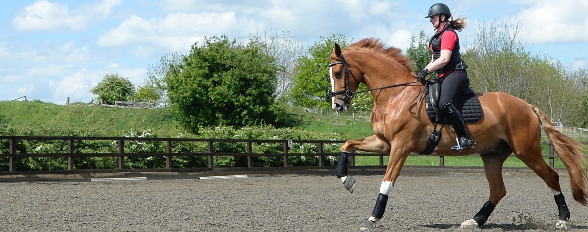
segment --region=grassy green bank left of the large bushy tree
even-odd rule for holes
[[[44,102],[0,102],[0,124],[53,130],[85,129],[105,136],[130,130],[154,133],[182,130],[166,109],[61,106]]]

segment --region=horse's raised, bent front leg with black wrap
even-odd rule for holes
[[[355,177],[348,176],[347,166],[349,162],[349,153],[355,150],[385,154],[390,152],[390,146],[375,135],[359,140],[349,140],[343,144],[341,147],[341,153],[339,154],[339,160],[337,162],[335,173],[337,178],[343,181],[345,189],[347,189],[350,193],[353,193],[353,190],[355,189]]]

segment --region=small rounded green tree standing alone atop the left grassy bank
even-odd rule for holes
[[[116,100],[131,100],[135,93],[135,85],[124,76],[107,74],[90,92],[98,95],[98,99],[103,103],[114,104]]]

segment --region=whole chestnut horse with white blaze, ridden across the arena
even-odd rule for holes
[[[372,127],[375,135],[349,140],[341,147],[336,167],[337,177],[353,193],[355,177],[348,176],[349,153],[355,150],[389,154],[386,173],[372,216],[360,226],[361,230],[376,227],[385,211],[386,203],[406,158],[410,153],[425,150],[433,130],[425,107],[421,89],[423,82],[416,81],[413,62],[402,55],[400,49],[389,48],[379,39],[366,38],[342,50],[335,44],[330,55],[330,81],[332,106],[338,112],[348,110],[359,83],[368,86],[375,100]],[[460,152],[451,150],[456,139],[450,126],[442,130],[439,144],[433,154],[467,156],[479,154],[484,164],[490,187],[489,200],[471,219],[460,227],[480,227],[486,222],[495,206],[506,196],[502,166],[514,153],[533,170],[552,190],[559,210],[557,228],[567,228],[570,218],[566,201],[559,184],[559,174],[549,167],[542,157],[541,127],[567,168],[574,200],[586,206],[588,190],[585,161],[586,146],[563,135],[536,106],[507,93],[476,93],[483,108],[478,122],[468,123],[470,135],[477,144],[473,149]]]

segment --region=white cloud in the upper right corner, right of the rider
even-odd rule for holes
[[[534,0],[516,17],[522,33],[531,43],[588,42],[588,1]]]

